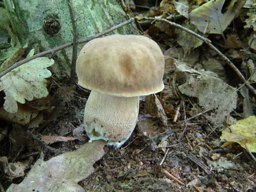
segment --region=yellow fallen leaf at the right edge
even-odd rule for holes
[[[231,125],[230,129],[222,131],[221,140],[228,141],[222,147],[235,142],[250,152],[256,153],[256,116],[239,120]]]

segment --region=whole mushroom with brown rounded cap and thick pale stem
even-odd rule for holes
[[[137,123],[139,96],[163,90],[163,53],[142,35],[110,35],[84,45],[76,61],[78,84],[92,90],[84,109],[90,141],[117,148]]]

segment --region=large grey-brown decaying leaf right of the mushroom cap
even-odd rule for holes
[[[225,81],[216,78],[215,73],[191,69],[184,62],[177,61],[175,65],[177,65],[178,71],[192,73],[187,82],[178,88],[183,94],[198,98],[200,110],[195,110],[196,114],[213,109],[213,113],[210,115],[205,114],[204,116],[216,124],[223,122],[225,117],[236,108],[237,90],[225,83]]]

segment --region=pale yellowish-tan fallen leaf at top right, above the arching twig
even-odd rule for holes
[[[246,0],[230,0],[227,7],[224,7],[225,1],[210,0],[192,10],[189,14],[190,22],[201,32],[222,34],[240,12]]]

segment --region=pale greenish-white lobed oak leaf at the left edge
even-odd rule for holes
[[[39,57],[12,70],[0,79],[0,91],[4,90],[4,109],[9,113],[18,111],[17,102],[48,96],[47,80],[52,74],[47,67],[53,59]]]

